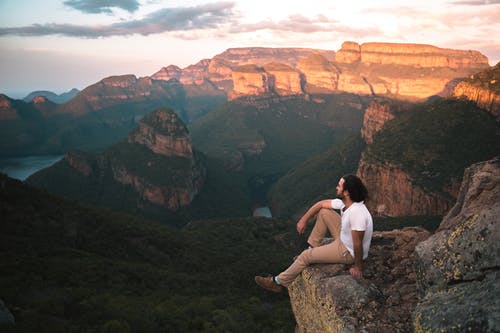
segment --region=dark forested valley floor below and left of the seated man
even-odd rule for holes
[[[70,203],[0,175],[4,332],[290,332],[288,296],[253,276],[297,253],[272,219],[156,222]],[[279,237],[278,237],[279,236]]]

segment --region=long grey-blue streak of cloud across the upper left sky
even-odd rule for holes
[[[233,7],[234,3],[232,2],[219,2],[195,7],[163,8],[147,15],[143,19],[99,26],[47,23],[24,27],[7,27],[0,28],[0,36],[64,35],[70,37],[98,38],[217,28],[232,17]]]

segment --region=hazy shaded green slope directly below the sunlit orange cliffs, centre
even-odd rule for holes
[[[240,165],[248,179],[281,176],[361,128],[365,99],[315,97],[322,102],[294,96],[226,103],[190,124],[193,145],[227,165]]]

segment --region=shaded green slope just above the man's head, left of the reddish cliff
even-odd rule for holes
[[[290,218],[318,200],[335,198],[340,177],[356,173],[364,146],[361,137],[353,135],[280,178],[269,194],[274,216]]]

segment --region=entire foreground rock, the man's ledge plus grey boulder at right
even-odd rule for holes
[[[497,332],[500,159],[468,168],[455,206],[430,235],[375,232],[364,278],[306,268],[288,292],[298,332]]]

